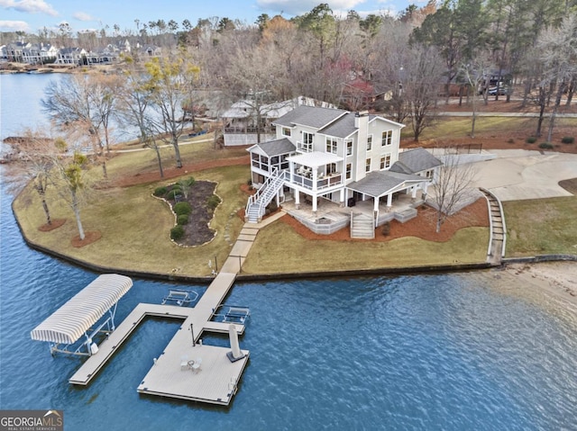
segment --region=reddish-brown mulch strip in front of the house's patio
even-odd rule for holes
[[[280,220],[287,223],[294,229],[298,235],[307,239],[333,240],[333,241],[390,241],[395,238],[417,237],[427,241],[444,242],[453,238],[454,233],[463,228],[472,226],[488,227],[489,213],[487,211],[487,201],[482,198],[473,202],[462,211],[454,214],[447,219],[441,226],[439,233],[435,232],[436,212],[430,207],[421,206],[418,208],[418,214],[415,219],[401,223],[397,220],[390,222],[389,235],[382,234],[382,227],[375,229],[374,239],[353,239],[350,236],[349,229],[343,228],[331,235],[317,235],[297,220],[289,215],[282,217]]]

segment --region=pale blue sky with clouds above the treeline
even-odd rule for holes
[[[136,22],[174,20],[193,25],[199,18],[227,17],[247,24],[261,13],[281,14],[289,19],[307,13],[317,4],[327,3],[334,13],[354,10],[362,17],[369,13],[397,14],[408,4],[421,7],[426,0],[0,0],[0,31],[58,29],[68,22],[72,31],[110,29],[136,31]]]

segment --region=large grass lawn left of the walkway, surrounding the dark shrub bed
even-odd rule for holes
[[[112,164],[111,164],[112,165]],[[60,254],[90,262],[109,270],[127,269],[153,274],[206,276],[210,274],[208,261],[224,263],[231,244],[224,238],[236,238],[243,220],[236,211],[244,207],[246,195],[240,190],[249,175],[248,166],[227,166],[194,173],[198,180],[218,183],[216,194],[223,203],[216,209],[211,227],[217,230],[215,239],[202,247],[179,247],[169,238],[174,218],[165,202],[151,196],[155,187],[175,180],[133,187],[95,190],[90,203],[81,210],[85,231],[99,231],[102,238],[85,247],[72,247],[71,238],[78,235],[72,211],[65,202],[50,193],[48,202],[53,219],[67,222],[59,229],[41,232],[44,213],[37,194],[28,187],[14,201],[25,235],[41,247],[57,250]],[[183,175],[184,177],[190,174]]]

